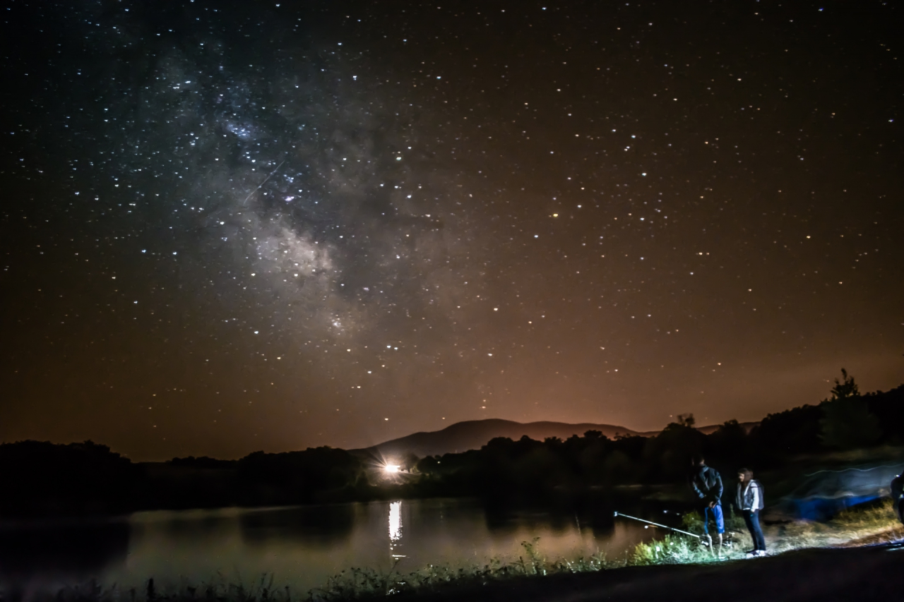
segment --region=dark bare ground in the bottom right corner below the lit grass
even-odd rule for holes
[[[756,560],[706,566],[627,567],[596,573],[520,578],[401,597],[451,600],[606,600],[704,602],[747,600],[898,600],[904,591],[904,548],[798,550]]]

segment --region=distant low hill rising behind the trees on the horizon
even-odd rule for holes
[[[572,435],[582,436],[589,430],[598,430],[609,438],[632,437],[640,434],[630,428],[589,422],[568,424],[550,421],[522,423],[504,419],[465,420],[449,425],[442,430],[421,431],[406,437],[384,441],[372,447],[353,449],[351,452],[376,456],[387,461],[401,461],[403,457],[410,454],[418,457],[442,456],[461,453],[468,449],[480,449],[495,437],[517,440],[526,435],[542,441],[546,437],[567,439]]]

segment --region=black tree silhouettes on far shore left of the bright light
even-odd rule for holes
[[[350,501],[373,496],[361,458],[317,447],[240,460],[133,464],[90,441],[0,445],[0,516]]]

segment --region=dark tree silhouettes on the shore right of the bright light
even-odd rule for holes
[[[565,441],[496,438],[480,450],[422,459],[420,486],[430,494],[541,500],[562,490],[680,481],[692,456],[703,456],[709,465],[730,474],[739,466],[754,470],[781,466],[791,456],[829,447],[901,442],[904,385],[861,397],[853,378],[843,371],[832,393],[833,400],[820,405],[769,414],[750,432],[729,420],[704,435],[692,427],[692,415],[683,414],[654,437],[612,440],[588,431]],[[876,417],[881,417],[881,425]],[[829,423],[834,425],[833,434],[824,437]]]

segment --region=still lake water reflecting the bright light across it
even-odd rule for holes
[[[583,524],[550,513],[487,513],[467,500],[135,513],[104,522],[0,523],[0,581],[26,591],[86,583],[158,588],[258,581],[297,593],[344,569],[407,572],[429,564],[517,559],[540,538],[548,559],[623,555],[652,531],[631,522]]]

